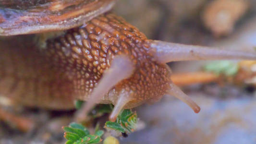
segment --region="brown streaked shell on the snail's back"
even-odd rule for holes
[[[0,0],[0,36],[67,30],[109,11],[116,0]]]

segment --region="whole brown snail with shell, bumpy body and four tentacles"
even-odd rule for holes
[[[0,95],[25,106],[70,109],[87,103],[123,108],[164,95],[196,103],[171,81],[166,65],[182,60],[256,60],[256,53],[149,40],[110,13],[116,0],[0,0]],[[8,37],[6,37],[8,36]]]

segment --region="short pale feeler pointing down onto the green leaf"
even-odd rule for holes
[[[131,95],[126,92],[125,90],[122,90],[120,93],[117,103],[110,114],[110,121],[114,122],[118,116],[118,114],[121,112],[122,108],[131,100]]]

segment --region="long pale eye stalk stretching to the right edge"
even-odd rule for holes
[[[254,52],[183,45],[157,40],[150,40],[149,45],[151,48],[156,48],[155,58],[161,63],[184,60],[256,60]]]

